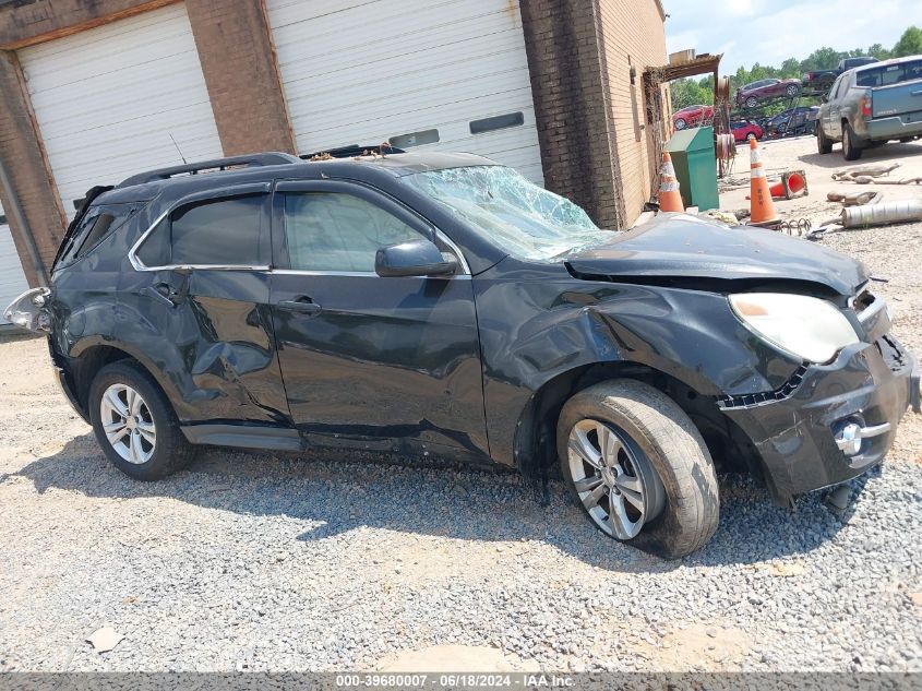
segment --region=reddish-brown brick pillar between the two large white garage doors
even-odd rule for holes
[[[261,0],[185,0],[226,156],[295,153]]]

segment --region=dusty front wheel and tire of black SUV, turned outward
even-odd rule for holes
[[[720,512],[714,463],[697,428],[666,394],[633,380],[601,382],[566,402],[556,433],[563,478],[607,535],[666,559],[690,555],[714,535]],[[609,443],[612,436],[618,444]],[[602,446],[616,450],[606,464]],[[618,504],[610,503],[613,495]],[[616,505],[622,520],[612,521]]]

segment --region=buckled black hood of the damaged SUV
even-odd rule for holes
[[[687,214],[660,216],[611,241],[566,258],[579,274],[649,278],[783,278],[823,284],[851,296],[864,266],[814,242],[761,228],[732,228]]]

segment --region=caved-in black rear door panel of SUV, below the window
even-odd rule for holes
[[[116,338],[147,354],[181,421],[290,424],[267,271],[125,272],[119,294]]]

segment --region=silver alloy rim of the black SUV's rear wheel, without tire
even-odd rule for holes
[[[112,449],[129,463],[141,465],[154,455],[157,429],[151,409],[134,389],[112,384],[99,402],[99,419]]]

